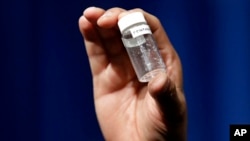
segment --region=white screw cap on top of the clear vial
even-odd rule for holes
[[[118,21],[118,26],[121,32],[127,27],[136,23],[146,23],[146,20],[141,12],[133,12],[125,15]]]

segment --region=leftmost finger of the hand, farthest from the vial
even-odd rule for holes
[[[108,64],[97,29],[97,20],[104,12],[101,8],[89,7],[79,19],[79,28],[84,37],[85,48],[93,75],[100,73]]]

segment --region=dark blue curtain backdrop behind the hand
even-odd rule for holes
[[[103,140],[78,31],[93,5],[162,21],[183,63],[189,141],[228,141],[230,124],[250,124],[249,0],[1,0],[1,141]]]

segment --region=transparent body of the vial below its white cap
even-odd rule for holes
[[[140,82],[148,82],[158,73],[166,72],[166,65],[152,34],[133,38],[131,30],[127,29],[122,32],[122,41]]]

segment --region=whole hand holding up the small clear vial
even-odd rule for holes
[[[140,83],[121,42],[119,18],[141,11],[158,44],[167,73]],[[180,59],[160,21],[141,10],[87,8],[79,28],[90,62],[97,118],[108,141],[184,141],[187,112]]]

